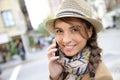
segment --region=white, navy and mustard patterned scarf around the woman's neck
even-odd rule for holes
[[[63,52],[60,51],[58,62],[64,67],[64,71],[68,73],[64,80],[81,80],[83,75],[88,71],[89,56],[89,48],[84,48],[82,52],[71,59],[65,57]]]

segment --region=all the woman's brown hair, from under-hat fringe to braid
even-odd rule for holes
[[[91,23],[84,19],[77,18],[78,20],[83,22],[82,30],[85,32],[85,35],[80,32],[80,35],[87,39],[87,44],[86,46],[90,47],[91,49],[91,54],[89,57],[89,64],[88,64],[88,70],[89,70],[89,75],[91,80],[94,80],[95,77],[95,71],[99,65],[99,62],[101,61],[101,48],[99,48],[97,44],[97,33],[95,31],[95,28]],[[73,20],[71,17],[65,17],[65,18],[59,18],[59,20],[66,22],[68,24],[72,24],[70,21]],[[88,37],[88,32],[87,29],[90,29],[92,27],[92,36],[89,38]]]

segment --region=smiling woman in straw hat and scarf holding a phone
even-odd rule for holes
[[[84,0],[65,0],[46,28],[55,34],[47,53],[50,80],[112,80],[97,44],[102,24]]]

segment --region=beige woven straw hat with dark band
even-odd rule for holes
[[[54,33],[54,21],[62,17],[77,17],[87,20],[93,25],[96,32],[100,32],[103,27],[98,20],[92,18],[90,5],[84,0],[64,0],[56,17],[46,22],[46,29]]]

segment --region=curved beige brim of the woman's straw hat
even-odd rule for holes
[[[88,18],[88,17],[83,17],[83,16],[62,16],[62,17],[76,17],[76,18],[80,18],[80,19],[84,19],[88,22],[90,22],[93,27],[95,28],[96,32],[100,32],[103,28],[103,25],[101,22],[99,22],[98,20],[95,20],[95,19],[92,19],[92,18]],[[50,32],[50,33],[53,33],[54,34],[54,21],[56,19],[59,19],[59,18],[62,18],[62,17],[58,17],[58,18],[54,18],[54,19],[51,19],[51,20],[48,20],[46,22],[46,29]]]

